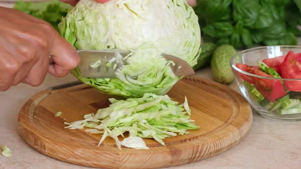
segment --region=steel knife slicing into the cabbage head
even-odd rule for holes
[[[92,78],[117,78],[115,71],[125,64],[124,61],[131,55],[128,51],[104,51],[104,50],[77,50],[81,57],[78,68],[81,76]],[[192,67],[184,60],[169,54],[162,56],[171,62],[171,70],[176,76],[194,74]],[[49,56],[49,64],[54,64]]]

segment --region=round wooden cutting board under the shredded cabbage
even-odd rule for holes
[[[185,77],[168,95],[180,103],[187,96],[191,118],[200,128],[166,138],[165,147],[144,139],[149,150],[122,147],[119,151],[111,137],[97,147],[101,135],[64,129],[64,122],[82,120],[109,105],[109,96],[85,85],[38,93],[21,108],[18,129],[34,149],[62,161],[100,168],[159,168],[217,155],[237,145],[252,124],[246,100],[217,82]],[[62,115],[55,117],[58,111]]]

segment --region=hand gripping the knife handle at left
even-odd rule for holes
[[[47,72],[62,77],[78,66],[76,49],[47,22],[3,7],[0,16],[0,91],[20,82],[38,86]]]

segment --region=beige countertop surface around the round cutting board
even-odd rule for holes
[[[10,0],[12,1],[12,0]],[[1,3],[0,6],[12,7]],[[299,39],[301,44],[301,39]],[[212,79],[210,68],[194,76]],[[17,115],[21,106],[36,93],[48,87],[77,80],[72,75],[55,78],[47,75],[39,87],[19,84],[0,92],[0,145],[6,145],[13,156],[0,155],[4,168],[89,168],[62,162],[27,145],[17,131]],[[236,82],[229,85],[239,92]],[[253,110],[253,124],[245,138],[235,147],[214,157],[170,169],[186,168],[301,168],[301,121],[280,122],[261,117]]]

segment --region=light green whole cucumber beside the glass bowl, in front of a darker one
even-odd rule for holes
[[[230,58],[236,52],[236,49],[229,44],[220,45],[214,50],[210,66],[215,81],[230,83],[234,80]]]

